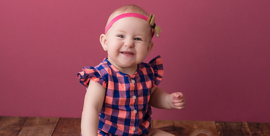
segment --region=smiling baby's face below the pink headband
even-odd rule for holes
[[[106,33],[108,59],[117,67],[137,66],[150,52],[151,27],[137,17],[125,17],[114,22]]]

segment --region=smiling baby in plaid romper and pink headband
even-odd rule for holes
[[[163,67],[158,55],[142,62],[150,53],[152,36],[160,27],[154,15],[136,5],[116,9],[108,18],[100,43],[108,56],[95,67],[77,74],[87,87],[81,116],[81,134],[86,135],[172,135],[150,128],[151,106],[183,109],[181,92],[166,93],[157,87]]]

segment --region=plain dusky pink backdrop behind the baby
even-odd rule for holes
[[[80,117],[76,73],[106,52],[109,14],[134,3],[156,15],[160,87],[184,110],[153,119],[270,122],[269,0],[0,0],[0,116]]]

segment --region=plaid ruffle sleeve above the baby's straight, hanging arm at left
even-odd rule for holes
[[[90,79],[94,82],[98,82],[103,87],[106,88],[106,82],[102,78],[102,76],[99,74],[99,72],[92,66],[83,66],[81,72],[77,73],[77,78],[79,79],[79,82],[85,86],[88,87],[88,84],[90,82]]]

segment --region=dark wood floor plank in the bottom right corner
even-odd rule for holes
[[[252,136],[270,135],[270,123],[247,122]]]

